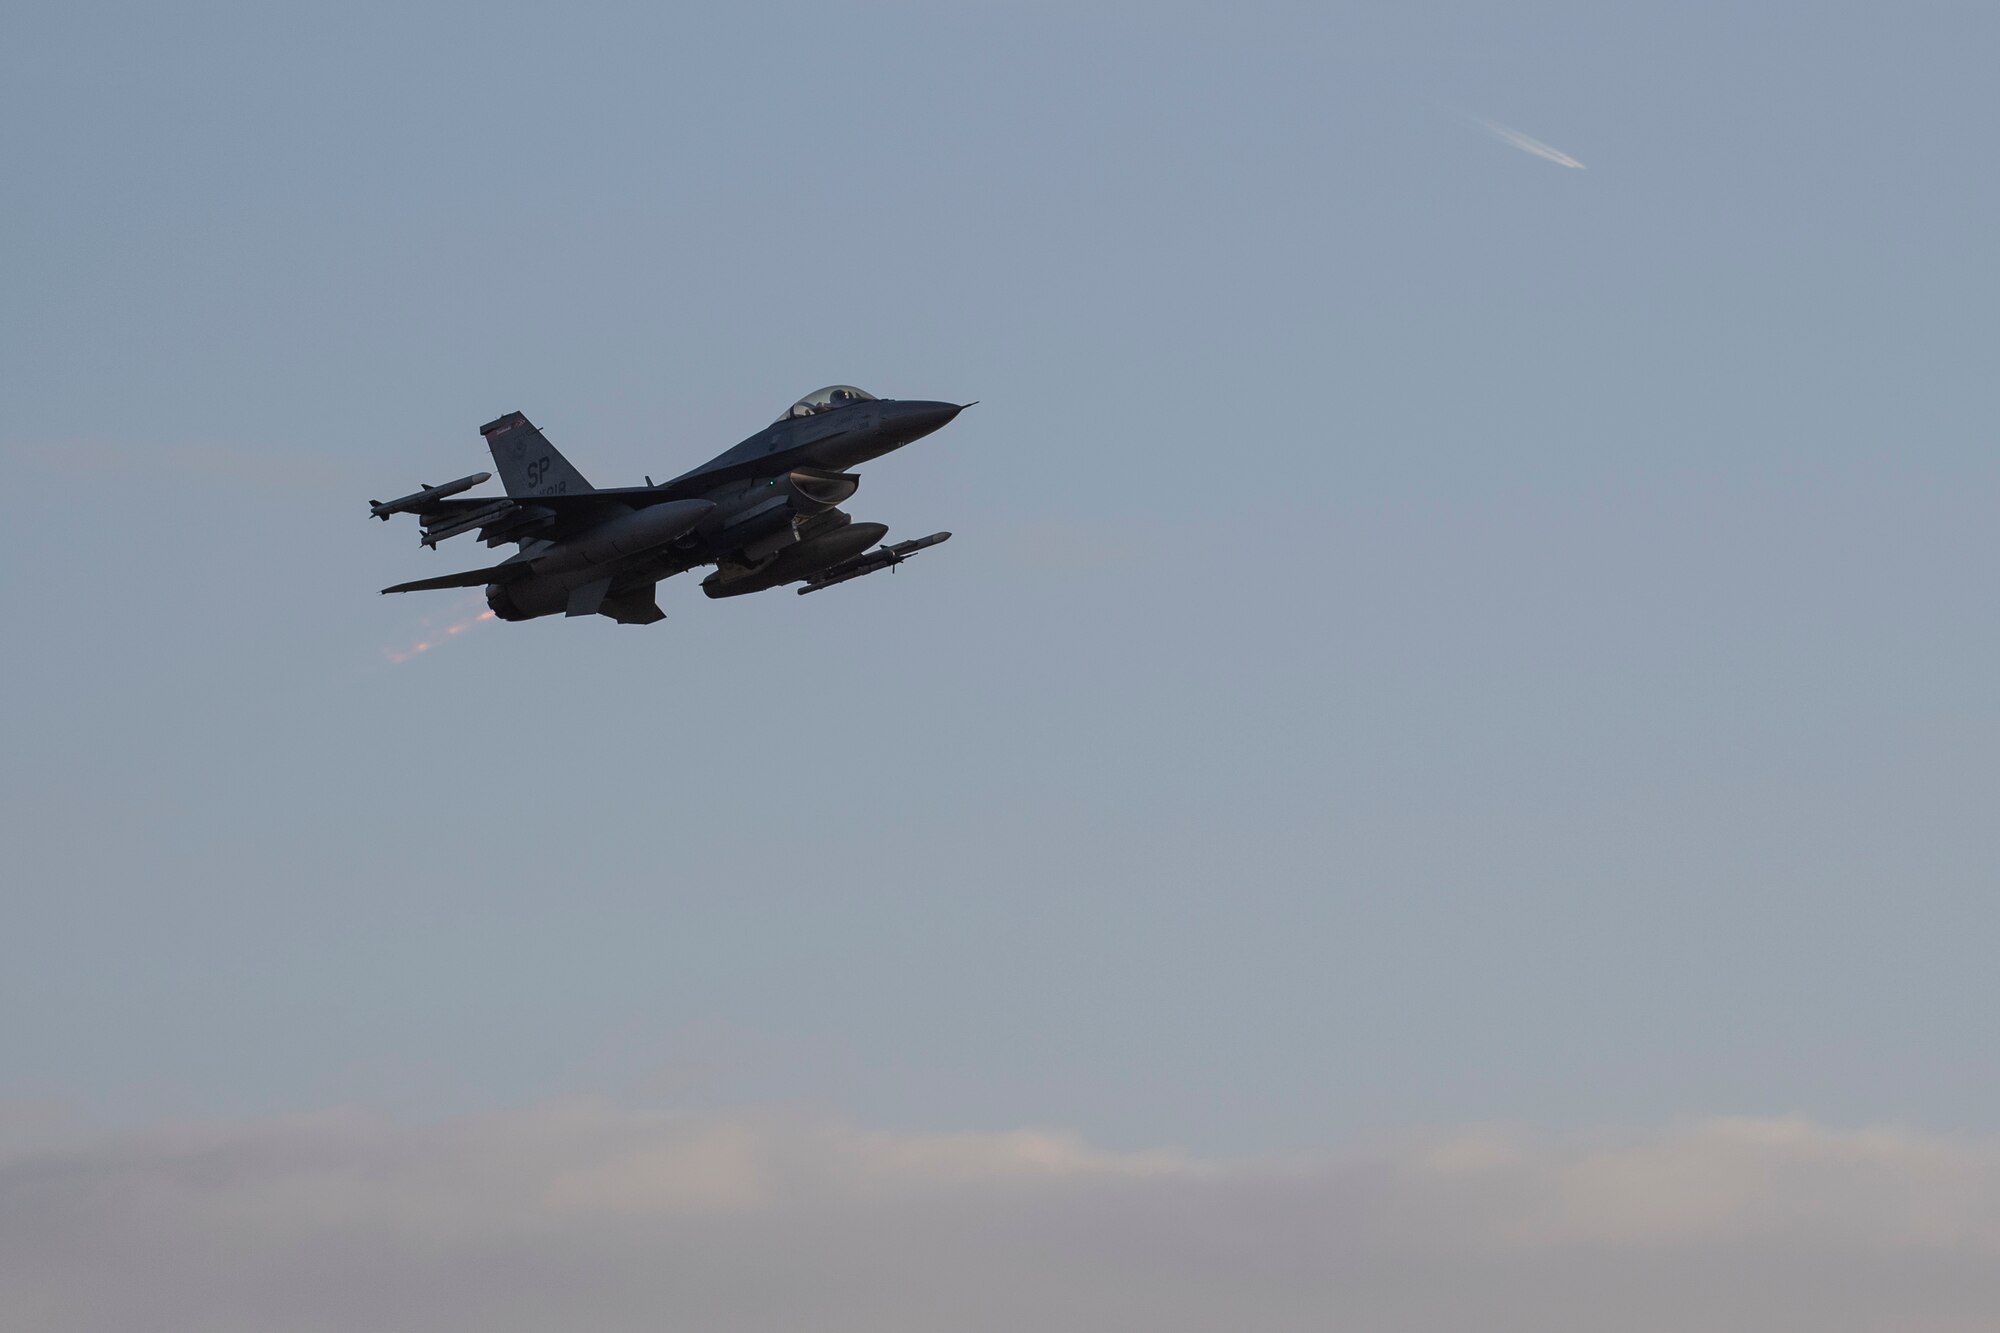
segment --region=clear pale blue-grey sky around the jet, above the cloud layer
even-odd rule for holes
[[[0,1099],[1994,1129],[1992,10],[12,28]],[[836,380],[948,546],[390,662]]]

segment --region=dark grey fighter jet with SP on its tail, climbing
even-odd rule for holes
[[[598,490],[520,412],[480,426],[506,496],[454,498],[492,472],[424,486],[400,500],[370,502],[384,522],[416,514],[422,542],[478,528],[488,546],[516,542],[500,564],[398,582],[384,592],[486,586],[502,620],[604,614],[620,624],[664,618],[656,584],[714,564],[708,596],[762,592],[802,582],[818,592],[894,568],[950,532],[876,546],[888,528],[854,522],[838,506],[860,486],[850,472],[938,430],[970,402],[876,398],[832,384],[794,402],[784,416],[736,448],[674,480]],[[874,546],[874,550],[870,550]]]

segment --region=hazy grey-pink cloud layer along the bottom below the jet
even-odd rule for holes
[[[0,1327],[1990,1329],[2000,1143],[1804,1121],[1322,1161],[596,1103],[0,1121]]]

